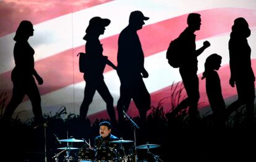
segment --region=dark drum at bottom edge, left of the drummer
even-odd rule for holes
[[[82,147],[79,150],[79,162],[94,161],[95,153],[93,148]]]

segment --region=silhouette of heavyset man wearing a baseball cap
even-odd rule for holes
[[[148,20],[142,12],[135,10],[130,13],[129,25],[119,34],[117,52],[117,74],[119,76],[120,98],[117,102],[119,121],[124,120],[122,110],[127,111],[130,100],[133,99],[139,110],[141,122],[147,118],[150,109],[150,94],[142,78],[148,78],[144,68],[144,54],[137,31],[142,29]]]

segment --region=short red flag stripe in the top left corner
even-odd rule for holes
[[[0,36],[14,32],[22,20],[30,20],[35,25],[109,1],[112,0],[0,1]]]

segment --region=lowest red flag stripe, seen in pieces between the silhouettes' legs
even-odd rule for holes
[[[254,69],[254,73],[256,74],[256,59],[252,60],[252,67]],[[218,70],[218,74],[221,79],[221,88],[222,88],[222,94],[224,99],[228,99],[229,97],[233,97],[234,95],[237,95],[236,88],[231,87],[229,85],[229,77],[230,77],[230,71],[229,71],[229,65],[224,65],[223,67]],[[198,75],[199,78],[199,92],[200,92],[200,100],[198,104],[198,108],[203,108],[203,107],[208,107],[209,102],[208,102],[208,97],[205,89],[205,79],[200,79],[202,78],[202,74]],[[170,83],[171,84],[171,83]],[[176,86],[176,84],[174,84]],[[163,89],[160,89],[159,91],[153,92],[150,94],[151,96],[151,106],[157,107],[158,103],[160,100],[161,106],[164,108],[164,113],[167,113],[168,111],[171,110],[171,86],[164,87]],[[181,94],[182,97],[186,97],[186,91],[182,91]],[[151,113],[152,109],[148,111],[148,114]],[[134,102],[130,103],[129,110],[127,112],[130,116],[138,116],[139,111],[135,107]],[[106,110],[100,111],[98,113],[95,113],[93,115],[88,116],[90,121],[95,121],[95,119],[101,119],[101,118],[108,118],[108,113]]]

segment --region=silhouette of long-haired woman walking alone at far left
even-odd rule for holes
[[[3,119],[9,123],[15,108],[22,102],[25,94],[28,95],[32,103],[33,114],[35,115],[35,123],[43,121],[41,110],[41,97],[38,87],[35,83],[35,78],[38,84],[43,84],[43,79],[36,72],[33,55],[35,51],[28,43],[28,38],[33,36],[33,25],[27,20],[20,22],[19,27],[14,36],[16,41],[14,46],[15,67],[11,73],[13,83],[12,98],[6,107]],[[35,78],[33,77],[35,76]]]

